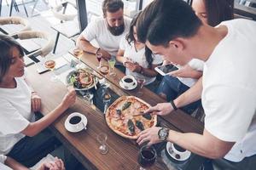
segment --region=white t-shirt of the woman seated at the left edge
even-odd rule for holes
[[[15,78],[16,88],[0,88],[0,154],[8,154],[23,137],[20,133],[34,121],[31,90],[24,77]]]

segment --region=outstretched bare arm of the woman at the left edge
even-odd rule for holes
[[[21,133],[30,137],[40,133],[45,127],[48,127],[52,122],[54,122],[58,116],[61,116],[61,114],[66,111],[70,105],[73,105],[75,103],[75,99],[76,94],[74,89],[72,89],[65,95],[61,104],[58,105],[54,111],[50,111],[48,115],[39,119],[37,122],[30,122]]]

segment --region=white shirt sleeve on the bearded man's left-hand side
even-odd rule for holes
[[[88,24],[88,26],[86,26],[86,28],[82,32],[82,36],[90,42],[91,40],[96,38],[97,31],[97,20],[93,20]]]

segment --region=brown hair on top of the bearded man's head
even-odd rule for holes
[[[124,8],[124,3],[121,0],[104,0],[102,3],[102,11],[104,16],[106,16],[107,11],[110,13],[115,13],[119,8]]]

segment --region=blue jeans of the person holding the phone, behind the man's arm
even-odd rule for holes
[[[160,82],[157,94],[166,94],[166,100],[170,101],[176,99],[188,89],[189,87],[183,84],[183,82],[180,82],[176,77],[165,76],[162,82]],[[191,115],[200,105],[201,100],[198,100],[189,105],[183,106],[181,110]]]

